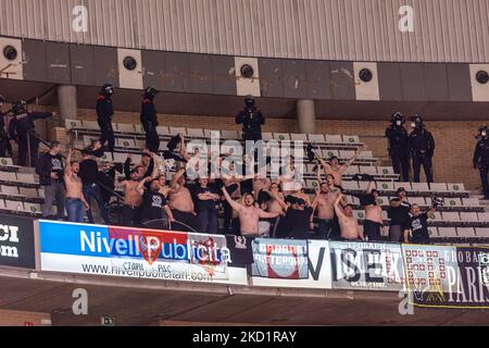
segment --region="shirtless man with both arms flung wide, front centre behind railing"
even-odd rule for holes
[[[260,219],[275,219],[279,213],[267,213],[254,204],[254,197],[251,194],[244,195],[244,206],[235,202],[226,188],[223,187],[223,194],[227,202],[239,214],[240,232],[242,236],[260,235]]]

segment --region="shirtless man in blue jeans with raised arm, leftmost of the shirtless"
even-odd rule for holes
[[[68,221],[75,223],[83,223],[85,211],[90,209],[85,200],[83,189],[84,185],[78,177],[79,163],[72,163],[72,154],[74,150],[71,149],[66,158],[64,166],[64,183],[66,185],[66,210],[68,213]]]

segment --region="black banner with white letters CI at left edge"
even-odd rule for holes
[[[0,265],[36,268],[33,219],[0,215]]]

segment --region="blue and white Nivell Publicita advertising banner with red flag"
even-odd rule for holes
[[[229,269],[224,236],[39,222],[41,270],[181,282],[247,284]]]

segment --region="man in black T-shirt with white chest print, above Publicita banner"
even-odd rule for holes
[[[149,184],[149,189],[146,185]],[[160,191],[161,185],[159,178],[146,177],[137,187],[138,194],[142,197],[141,203],[141,223],[146,224],[151,221],[167,220],[168,228],[172,228],[173,217],[166,197]]]

